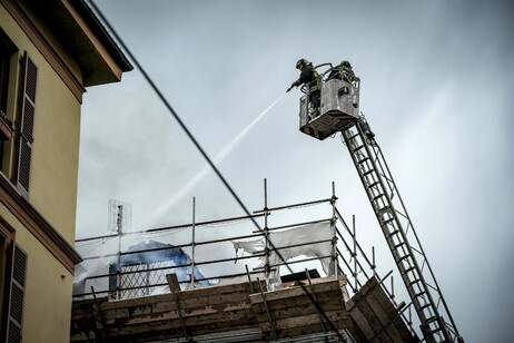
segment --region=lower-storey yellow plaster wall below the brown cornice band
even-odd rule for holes
[[[28,254],[23,343],[69,342],[73,275],[1,203],[0,213]]]

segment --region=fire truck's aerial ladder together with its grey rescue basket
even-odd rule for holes
[[[299,129],[317,139],[342,134],[366,190],[380,229],[412,300],[426,342],[464,342],[414,229],[382,149],[364,115],[359,114],[360,80],[322,78],[320,106],[309,101],[308,85],[302,87]],[[344,70],[343,70],[344,71]],[[332,72],[330,72],[332,75]]]

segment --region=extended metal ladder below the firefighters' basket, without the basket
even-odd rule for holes
[[[413,301],[426,342],[464,342],[368,124],[362,117],[342,134]]]

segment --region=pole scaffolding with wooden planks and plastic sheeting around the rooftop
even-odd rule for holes
[[[348,307],[348,302],[352,300],[353,296],[360,296],[360,298],[366,298],[367,295],[358,295],[359,292],[366,290],[367,285],[372,281],[376,281],[374,288],[378,287],[383,290],[387,296],[388,302],[391,302],[394,308],[399,310],[391,320],[387,320],[387,323],[380,324],[379,327],[368,330],[367,333],[358,333],[354,331],[350,334],[346,330],[346,327],[340,329],[334,325],[330,326],[330,320],[328,320],[327,317],[324,318],[324,311],[319,311],[318,308],[318,314],[316,316],[319,316],[322,326],[325,326],[320,327],[319,332],[316,333],[317,335],[324,335],[324,337],[326,337],[327,334],[332,332],[339,339],[339,341],[344,337],[348,339],[355,335],[360,335],[367,339],[377,336],[377,342],[380,342],[380,335],[392,334],[391,329],[389,333],[387,332],[387,327],[394,322],[401,324],[405,323],[407,325],[405,327],[408,327],[406,330],[408,332],[408,336],[414,337],[414,341],[416,341],[417,334],[413,329],[413,320],[411,316],[412,304],[406,305],[404,302],[397,304],[395,302],[394,292],[388,291],[386,286],[386,280],[388,278],[391,278],[393,285],[393,272],[389,272],[384,277],[380,277],[375,264],[374,249],[372,248],[372,258],[368,258],[366,256],[365,251],[362,248],[360,244],[356,239],[357,235],[355,216],[353,217],[352,226],[348,226],[345,219],[343,218],[342,213],[336,207],[337,197],[335,195],[335,185],[333,184],[330,197],[314,202],[298,203],[278,207],[267,206],[268,199],[266,180],[264,188],[265,206],[263,209],[254,212],[250,216],[195,223],[196,203],[194,199],[192,223],[170,227],[152,228],[144,232],[123,233],[122,239],[129,237],[134,238],[141,235],[145,235],[146,237],[151,235],[174,236],[177,233],[180,233],[182,239],[184,236],[190,238],[189,242],[184,244],[161,244],[158,246],[152,246],[151,248],[144,248],[145,245],[140,244],[139,247],[126,249],[123,252],[121,252],[120,248],[120,251],[117,253],[105,254],[101,256],[86,256],[83,258],[86,263],[93,262],[98,264],[98,261],[110,258],[111,261],[117,261],[118,264],[116,265],[116,263],[113,263],[116,267],[111,267],[107,273],[98,273],[97,275],[90,274],[87,277],[85,277],[85,287],[82,287],[82,292],[73,294],[75,303],[80,304],[81,302],[87,302],[88,298],[100,298],[100,296],[103,296],[103,298],[110,298],[111,301],[118,300],[119,302],[123,302],[130,301],[130,298],[135,297],[148,297],[149,295],[158,296],[159,294],[169,294],[170,291],[178,292],[177,294],[180,294],[180,292],[184,291],[189,292],[202,290],[214,284],[216,284],[217,286],[237,283],[248,283],[249,285],[253,285],[253,283],[257,281],[260,285],[260,281],[263,281],[264,288],[250,290],[250,297],[254,293],[260,293],[261,298],[266,298],[266,294],[268,294],[268,292],[281,292],[281,290],[287,288],[291,285],[299,285],[305,294],[310,294],[310,302],[313,304],[316,304],[318,300],[316,298],[316,293],[310,292],[313,285],[310,283],[308,273],[305,273],[306,276],[303,277],[304,282],[293,284],[286,282],[281,284],[279,281],[277,283],[276,275],[279,275],[280,270],[287,271],[289,274],[293,274],[302,272],[302,268],[305,265],[312,266],[314,264],[319,266],[319,264],[322,264],[325,277],[329,277],[336,281],[340,277],[344,277],[346,283],[346,275],[348,275],[347,286],[340,287],[340,298],[344,302],[347,302],[346,307]],[[288,224],[284,223],[284,225],[269,226],[269,218],[271,216],[274,218],[274,222],[279,223],[280,219],[283,219],[280,217],[281,213],[287,212],[288,214],[290,214],[290,210],[304,212],[309,209],[310,207],[316,207],[317,209],[317,217],[314,220],[294,224],[289,224],[289,220]],[[326,209],[326,214],[324,213],[323,215],[319,215],[319,207]],[[290,219],[290,215],[286,217]],[[250,228],[253,226],[251,224],[255,220],[260,220],[264,224],[263,229],[255,231],[255,228]],[[244,231],[246,234],[234,235],[235,229],[228,231],[229,233],[227,234],[227,229],[225,228],[234,228],[234,226],[241,228],[241,231]],[[319,235],[313,234],[310,235],[309,241],[288,241],[288,244],[277,244],[284,242],[284,239],[277,241],[275,238],[274,241],[276,234],[284,234],[287,232],[293,233],[294,231],[297,231],[298,233],[302,229],[308,231],[313,227],[324,227],[327,229],[327,233],[329,233],[329,235],[322,235],[323,239],[319,239]],[[219,234],[220,232],[225,232],[225,236],[218,236],[216,239],[204,239],[202,236],[205,235],[201,235],[201,233],[208,231],[209,228],[216,229],[217,234]],[[316,232],[319,233],[320,229],[316,229]],[[77,241],[77,244],[88,244],[95,241],[106,242],[108,239],[115,238],[120,237],[119,235],[106,235],[101,237],[79,239]],[[254,247],[254,249],[247,248],[245,251],[240,247],[241,244],[245,246],[251,246]],[[205,254],[205,251],[202,253],[202,248],[225,252],[225,255],[233,254],[233,256],[221,256],[221,258],[216,258],[216,255]],[[310,254],[300,253],[306,248],[310,251]],[[243,249],[241,255],[238,254],[240,249]],[[316,251],[316,253],[313,253],[313,249]],[[158,258],[154,262],[144,261],[144,263],[140,264],[134,263],[137,259],[135,258],[135,256],[138,256],[139,258],[140,255],[156,255],[162,252],[170,251],[175,251],[177,254],[179,254],[180,252],[184,253],[184,258],[180,261],[180,263],[177,263],[177,259],[166,261],[166,258]],[[234,253],[227,254],[230,251]],[[206,258],[206,256],[209,256],[209,258]],[[294,257],[291,258],[291,256]],[[126,265],[123,265],[123,261],[131,261],[131,263],[127,263]],[[112,266],[112,264],[110,265]],[[199,272],[200,270],[201,272]],[[171,274],[178,276],[181,275],[181,277],[178,277],[177,280],[177,284],[179,285],[179,287],[175,291],[172,290],[172,287],[169,286],[169,280],[167,280],[167,276]],[[98,281],[103,281],[103,283],[99,283]],[[116,282],[113,283],[112,281]],[[88,290],[88,287],[86,287],[88,283],[90,284],[90,291]],[[100,287],[99,284],[103,284],[105,287]],[[394,287],[392,288],[394,290]],[[372,294],[372,296],[377,295]],[[357,303],[362,304],[362,302],[355,302],[354,306],[348,307],[348,313],[354,322],[356,321],[356,317],[358,315],[362,315],[360,312],[364,311],[362,308],[358,308]],[[357,323],[357,325],[354,326],[359,327],[362,325]],[[271,325],[270,327],[273,329],[275,326]],[[253,332],[253,334],[256,334],[255,329],[253,330],[254,331],[250,330],[250,332]],[[212,334],[216,334],[216,336],[224,335],[224,333]],[[234,332],[230,332],[229,334],[227,333],[225,341],[220,340],[220,342],[229,342],[228,336],[233,334]],[[269,334],[270,336],[268,339],[279,339],[279,335],[273,334],[273,330]],[[210,334],[202,336],[210,336]],[[312,334],[309,334],[308,336],[312,336]],[[185,337],[186,336],[184,336],[182,339]],[[198,337],[196,336],[196,339]],[[300,337],[297,339],[300,340]],[[180,342],[181,339],[176,337],[176,342]],[[352,341],[350,339],[348,340],[349,342]],[[77,339],[76,342],[82,341]]]

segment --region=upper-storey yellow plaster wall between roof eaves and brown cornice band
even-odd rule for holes
[[[20,49],[19,58],[27,50],[38,67],[29,200],[70,244],[73,244],[80,102],[2,6],[0,19],[2,29]],[[58,51],[61,50],[56,42],[52,45]],[[69,57],[66,56],[65,59],[69,60]],[[73,74],[80,75],[77,66],[69,67]],[[16,91],[20,91],[19,87],[16,87]],[[12,102],[9,107],[14,111],[18,104]]]

